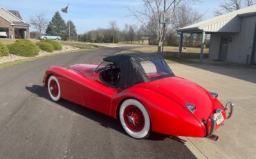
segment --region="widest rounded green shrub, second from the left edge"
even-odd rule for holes
[[[27,39],[19,39],[15,44],[8,45],[10,53],[19,56],[33,57],[38,55],[40,48]]]

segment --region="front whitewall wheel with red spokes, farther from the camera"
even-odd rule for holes
[[[51,99],[55,102],[59,102],[60,98],[60,83],[58,82],[57,77],[51,75],[48,79],[48,92],[51,96]]]

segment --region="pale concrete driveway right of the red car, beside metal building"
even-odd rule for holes
[[[256,156],[256,67],[234,64],[171,64],[177,76],[217,92],[219,100],[234,102],[235,110],[214,134],[219,140],[183,138],[197,158],[255,158]]]

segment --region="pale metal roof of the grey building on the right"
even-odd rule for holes
[[[241,17],[256,15],[256,5],[242,8],[220,15],[212,19],[201,21],[190,26],[179,28],[178,32],[239,32]]]

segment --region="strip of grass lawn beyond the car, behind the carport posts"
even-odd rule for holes
[[[164,47],[164,58],[167,63],[183,63],[186,62],[185,59],[199,59],[200,48],[190,48],[186,47],[183,50],[181,59],[178,59],[179,47],[178,46],[165,46]],[[120,53],[156,53],[157,46],[147,46],[140,48],[133,48],[130,50],[124,50]],[[209,48],[204,49],[203,58],[208,58]]]

